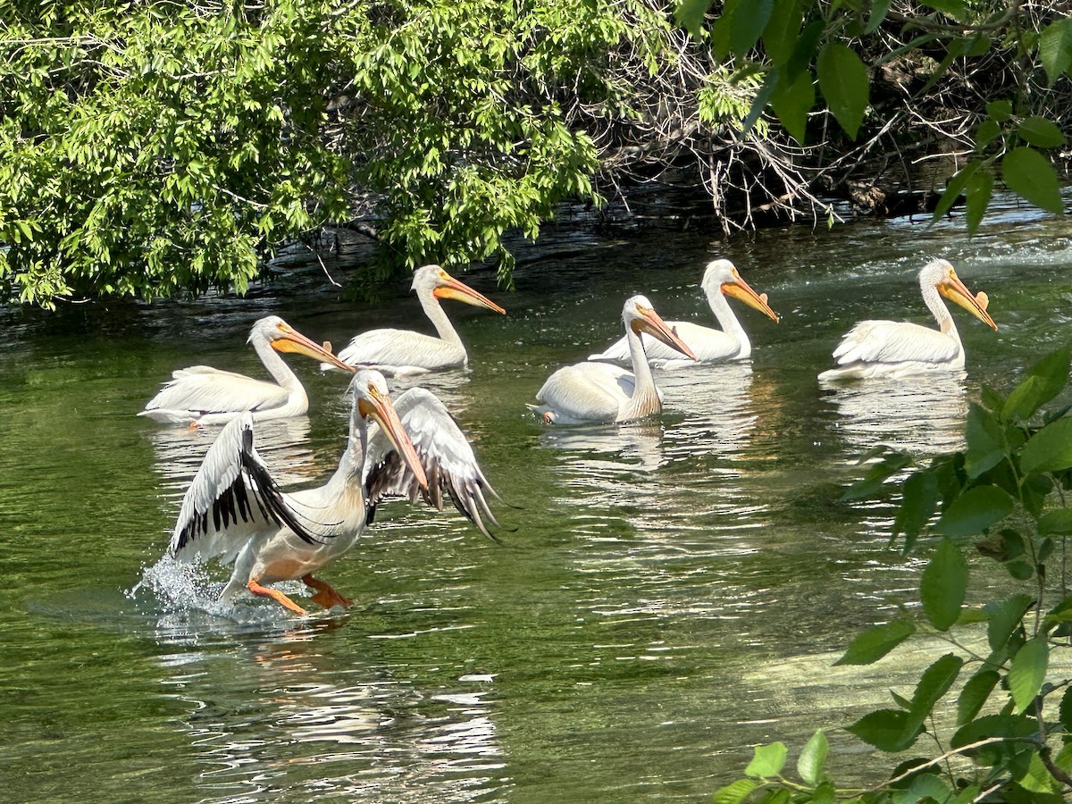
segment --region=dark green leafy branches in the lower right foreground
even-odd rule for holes
[[[894,694],[898,708],[847,727],[889,753],[913,748],[928,734],[939,756],[904,762],[884,784],[849,791],[836,789],[813,759],[804,761],[814,747],[802,751],[807,773],[801,770],[796,781],[781,775],[786,746],[759,746],[741,780],[747,785],[723,788],[716,801],[830,802],[836,795],[868,804],[1057,804],[1072,795],[1072,678],[1067,656],[1058,658],[1072,636],[1064,544],[1072,535],[1072,417],[1068,406],[1045,407],[1066,389],[1070,360],[1072,346],[1031,367],[1008,397],[987,389],[985,404],[969,413],[965,449],[900,481],[905,552],[922,546],[929,552],[922,605],[860,634],[837,662],[869,665],[920,632],[948,641],[953,652],[923,671],[910,699]],[[846,496],[877,493],[883,479],[911,463],[908,456],[883,456]],[[921,541],[924,535],[933,538]],[[1023,591],[966,606],[979,562],[969,562],[965,550],[997,563]],[[951,713],[947,699],[954,695]],[[950,761],[954,757],[966,762]]]

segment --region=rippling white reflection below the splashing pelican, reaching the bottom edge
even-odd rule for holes
[[[502,801],[494,678],[420,689],[359,656],[340,674],[323,653],[333,631],[303,624],[222,653],[160,635],[178,649],[159,659],[161,684],[188,706],[203,800]]]

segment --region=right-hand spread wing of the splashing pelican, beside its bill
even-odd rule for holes
[[[496,526],[498,521],[488,507],[486,494],[498,498],[498,492],[483,476],[473,447],[450,412],[438,397],[425,388],[411,388],[402,393],[394,400],[394,410],[428,475],[428,490],[422,494],[425,502],[443,510],[446,492],[455,507],[480,533],[494,539],[485,520]],[[384,497],[405,496],[413,502],[420,492],[413,473],[377,426],[369,428],[364,488],[370,522],[376,504]]]

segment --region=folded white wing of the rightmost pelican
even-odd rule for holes
[[[834,349],[834,359],[839,366],[853,362],[943,363],[954,360],[958,354],[957,341],[936,329],[907,322],[862,321]]]

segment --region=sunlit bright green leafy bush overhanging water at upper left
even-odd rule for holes
[[[630,12],[631,10],[631,12]],[[509,256],[596,198],[557,90],[649,54],[637,3],[0,0],[0,283],[239,292],[270,250],[353,217],[386,263]]]

